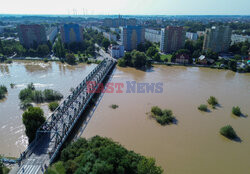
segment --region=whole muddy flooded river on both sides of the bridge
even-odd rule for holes
[[[38,89],[59,90],[66,97],[96,65],[68,66],[60,63],[15,62],[0,65],[0,84],[8,86],[0,102],[0,154],[18,156],[27,145],[18,93],[30,82]],[[154,157],[168,174],[235,174],[250,171],[250,74],[195,67],[155,66],[149,72],[117,68],[111,82],[163,83],[163,92],[104,94],[82,137],[101,135],[130,150]],[[9,84],[17,87],[11,89]],[[126,89],[126,88],[124,88]],[[126,90],[123,90],[126,92]],[[220,103],[209,113],[198,111],[209,96]],[[119,108],[112,109],[110,105]],[[171,109],[177,124],[161,126],[147,112],[158,105]],[[248,118],[231,115],[241,107]],[[46,104],[42,105],[48,115]],[[241,142],[219,134],[227,124]]]

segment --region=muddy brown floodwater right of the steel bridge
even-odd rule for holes
[[[163,93],[105,94],[82,137],[112,138],[130,150],[154,157],[168,174],[250,172],[250,117],[231,115],[235,105],[250,115],[250,74],[155,66],[150,72],[117,68],[111,81],[163,82]],[[198,111],[211,95],[221,106],[210,108],[209,113]],[[119,108],[110,108],[112,104]],[[177,124],[160,126],[147,116],[154,105],[171,109]],[[219,134],[227,124],[242,142]]]

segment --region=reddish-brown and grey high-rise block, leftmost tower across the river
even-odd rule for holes
[[[38,24],[19,25],[17,27],[20,43],[24,47],[34,47],[47,42],[45,27]]]

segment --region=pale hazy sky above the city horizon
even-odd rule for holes
[[[0,14],[250,15],[250,0],[0,0]]]

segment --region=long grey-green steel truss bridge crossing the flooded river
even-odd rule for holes
[[[93,91],[98,89],[113,70],[116,62],[104,59],[61,103],[46,122],[37,130],[35,140],[21,154],[18,174],[43,173],[59,154],[77,121],[86,110],[95,92],[88,92],[87,82],[95,82]]]

